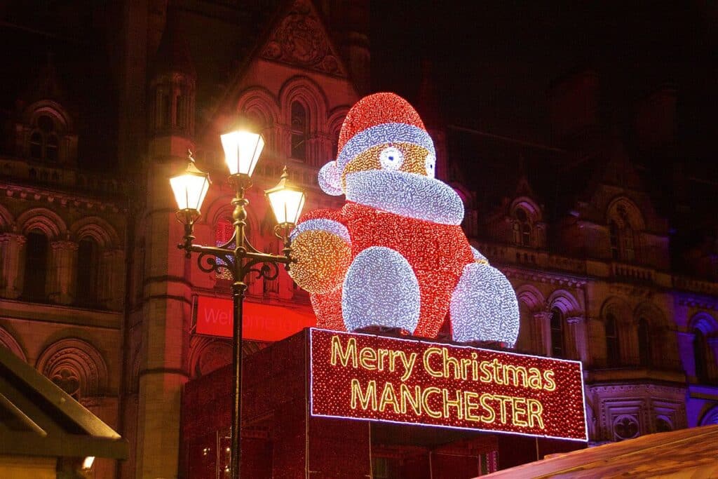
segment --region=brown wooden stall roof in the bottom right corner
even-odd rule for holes
[[[717,478],[718,425],[648,434],[547,457],[490,478]]]

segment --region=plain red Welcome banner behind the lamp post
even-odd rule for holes
[[[197,296],[195,313],[200,335],[232,337],[231,299]],[[317,325],[312,312],[294,310],[289,307],[274,306],[245,301],[242,314],[242,336],[257,341],[279,341]]]

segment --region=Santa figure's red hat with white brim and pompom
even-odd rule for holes
[[[344,119],[337,145],[339,154],[320,169],[320,187],[330,195],[341,195],[342,171],[352,159],[372,147],[400,142],[416,144],[436,154],[424,122],[408,101],[394,93],[365,96]]]

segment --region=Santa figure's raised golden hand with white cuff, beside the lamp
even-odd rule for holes
[[[344,281],[351,264],[351,238],[345,225],[326,215],[312,212],[292,232],[292,264],[289,274],[302,289],[313,294],[335,291]]]

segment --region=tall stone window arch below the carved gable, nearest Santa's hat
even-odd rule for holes
[[[292,122],[292,102],[299,101],[309,113],[309,131],[321,131],[327,118],[327,96],[318,83],[297,75],[286,80],[279,90],[279,107],[286,125]]]

